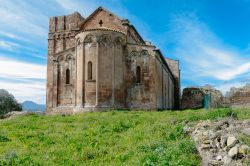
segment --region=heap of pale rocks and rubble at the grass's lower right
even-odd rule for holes
[[[228,118],[187,123],[184,132],[194,139],[203,166],[250,165],[250,120]]]

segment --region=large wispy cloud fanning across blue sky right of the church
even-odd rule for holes
[[[250,58],[222,43],[195,15],[174,17],[169,33],[176,42],[175,57],[190,80],[226,81],[250,72]]]

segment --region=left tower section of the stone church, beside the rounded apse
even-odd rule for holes
[[[75,102],[75,34],[83,20],[77,12],[67,16],[51,17],[49,20],[47,110],[59,105],[73,105]],[[67,69],[73,76],[69,85],[64,84]]]

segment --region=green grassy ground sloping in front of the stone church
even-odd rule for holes
[[[108,111],[0,121],[0,165],[199,165],[183,122],[250,110]]]

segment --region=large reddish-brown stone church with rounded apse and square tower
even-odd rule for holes
[[[47,113],[177,109],[179,61],[143,40],[129,20],[99,7],[51,17]]]

